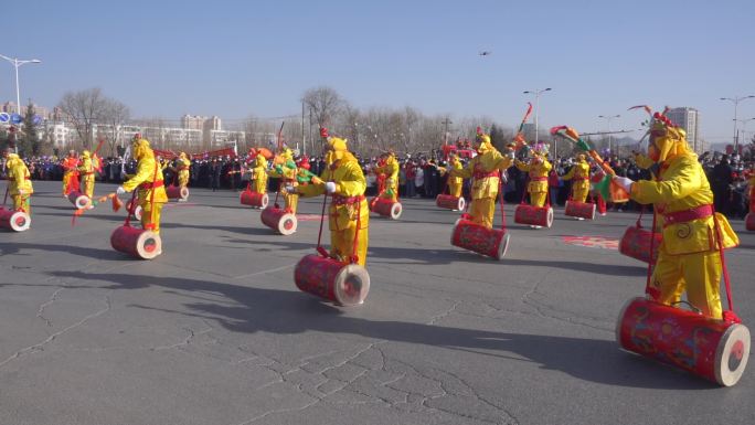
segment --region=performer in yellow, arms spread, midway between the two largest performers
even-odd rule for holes
[[[466,168],[451,169],[448,178],[474,178],[472,202],[469,208],[470,220],[476,224],[492,229],[496,199],[500,185],[499,170],[511,167],[512,159],[510,156],[501,155],[492,146],[488,135],[478,135],[477,144],[477,156],[467,163]]]

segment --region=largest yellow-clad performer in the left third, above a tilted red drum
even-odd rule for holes
[[[137,172],[118,188],[117,193],[123,194],[138,189],[137,204],[141,206],[141,226],[159,234],[160,213],[162,205],[168,202],[160,164],[147,139],[134,138],[131,152],[137,160]]]

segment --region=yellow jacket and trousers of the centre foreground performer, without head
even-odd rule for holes
[[[328,167],[320,174],[322,182],[300,185],[297,191],[302,196],[316,196],[326,192],[325,183],[332,181],[337,184],[336,195],[344,198],[362,196],[351,203],[330,203],[328,209],[328,226],[330,227],[330,254],[343,261],[354,255],[354,237],[357,241],[358,264],[366,264],[366,249],[369,242],[368,227],[370,224],[370,208],[364,191],[366,180],[359,162],[355,160],[341,160],[336,167]],[[359,221],[359,229],[357,222]]]

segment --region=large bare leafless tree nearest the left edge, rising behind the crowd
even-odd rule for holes
[[[57,105],[78,134],[84,149],[92,149],[94,125],[102,120],[107,109],[107,98],[99,87],[68,92]]]

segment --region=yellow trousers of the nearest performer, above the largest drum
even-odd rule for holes
[[[703,315],[721,319],[721,256],[717,251],[668,255],[661,249],[650,281],[660,290],[658,301],[672,305],[687,290],[690,304]]]

